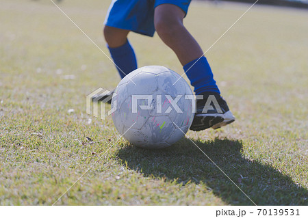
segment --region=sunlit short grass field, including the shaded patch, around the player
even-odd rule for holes
[[[108,4],[60,4],[105,53]],[[193,2],[185,25],[207,50],[248,7]],[[87,115],[86,96],[118,74],[50,1],[1,0],[0,20],[1,205],[51,205],[92,164],[56,205],[253,204],[189,139],[142,150]],[[206,54],[237,121],[187,137],[258,205],[308,204],[307,20],[255,6]],[[157,35],[129,38],[139,66],[183,72]]]

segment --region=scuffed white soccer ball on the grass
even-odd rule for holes
[[[124,77],[112,97],[116,130],[142,148],[166,148],[187,133],[194,118],[188,83],[164,66],[144,66]]]

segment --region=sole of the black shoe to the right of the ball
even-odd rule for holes
[[[192,127],[190,130],[192,131],[203,131],[207,128],[220,128],[222,126],[226,126],[227,124],[231,124],[234,122],[235,118],[231,111],[227,111],[226,113],[204,113],[198,114],[195,116],[194,121],[192,122]]]

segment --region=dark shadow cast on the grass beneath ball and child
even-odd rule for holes
[[[251,161],[242,155],[242,142],[215,139],[203,143],[194,141],[257,205],[307,204],[307,189],[296,185],[290,178],[270,165]],[[205,154],[189,139],[163,150],[144,150],[126,147],[118,157],[130,169],[144,176],[161,177],[187,184],[205,184],[227,204],[253,203],[224,176]],[[200,202],[202,204],[202,202]]]

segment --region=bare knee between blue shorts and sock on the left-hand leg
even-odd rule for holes
[[[108,46],[116,48],[127,42],[129,30],[105,26],[103,33]]]

